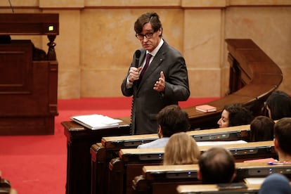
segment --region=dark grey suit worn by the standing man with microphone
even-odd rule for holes
[[[145,59],[145,50],[141,48],[139,66]],[[134,66],[135,58],[131,66]],[[155,82],[160,78],[160,72],[164,72],[166,87],[164,92],[153,89]],[[190,96],[188,84],[188,72],[185,60],[181,53],[166,41],[150,63],[140,82],[135,82],[130,89],[126,88],[127,76],[122,82],[124,96],[133,96],[131,108],[132,134],[157,133],[157,112],[167,105],[178,104],[186,101]]]

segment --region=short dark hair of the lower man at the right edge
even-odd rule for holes
[[[291,118],[279,119],[274,125],[274,138],[277,139],[280,149],[287,155],[291,155]]]

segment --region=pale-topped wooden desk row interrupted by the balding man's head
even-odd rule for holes
[[[198,164],[144,166],[143,179],[133,184],[134,193],[171,193],[180,184],[199,185],[201,181],[197,178],[198,169]],[[266,162],[236,162],[235,169],[237,176],[234,183],[243,182],[248,177],[266,177],[273,173],[291,175],[291,164],[274,166]]]

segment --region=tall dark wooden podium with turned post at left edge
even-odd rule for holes
[[[48,52],[10,35],[47,35]],[[0,13],[0,135],[54,134],[58,13]]]

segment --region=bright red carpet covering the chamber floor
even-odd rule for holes
[[[217,98],[190,98],[186,108]],[[64,194],[67,144],[60,122],[72,115],[102,114],[109,117],[130,115],[131,98],[82,98],[58,101],[53,136],[0,136],[0,171],[18,194]]]

